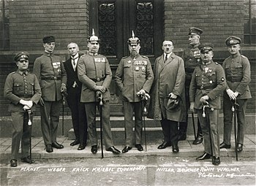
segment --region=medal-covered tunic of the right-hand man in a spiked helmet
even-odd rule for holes
[[[121,59],[116,69],[115,81],[123,101],[138,102],[141,89],[149,92],[154,81],[151,63],[146,56],[132,55]]]

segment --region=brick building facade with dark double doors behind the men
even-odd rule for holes
[[[239,36],[243,44],[241,53],[249,58],[252,69],[247,112],[255,115],[255,0],[1,0],[0,1],[0,86],[11,71],[15,71],[12,58],[20,50],[34,59],[42,54],[42,37],[56,37],[55,53],[65,61],[67,44],[78,43],[87,50],[87,38],[92,28],[101,39],[100,53],[106,55],[115,74],[120,59],[129,54],[127,39],[132,31],[141,40],[142,55],[151,63],[162,53],[162,41],[171,39],[174,52],[181,55],[188,44],[188,28],[203,29],[201,42],[214,44],[214,61],[222,63],[228,53],[227,36]],[[112,114],[121,113],[121,102],[111,84]],[[0,116],[9,116],[7,100],[0,90]],[[39,115],[39,112],[36,113]],[[69,109],[65,107],[65,115]],[[252,123],[252,125],[255,125]]]

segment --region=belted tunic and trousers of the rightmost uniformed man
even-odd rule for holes
[[[225,76],[227,80],[227,89],[238,92],[236,101],[238,106],[236,107],[238,134],[237,142],[239,144],[244,143],[244,131],[245,131],[245,111],[247,99],[252,98],[249,90],[249,82],[251,81],[251,70],[248,58],[244,55],[236,54],[230,55],[226,58],[222,64],[225,70]],[[232,112],[233,103],[230,101],[230,97],[227,92],[223,94],[223,113],[224,113],[224,142],[230,144],[230,136],[232,131]]]

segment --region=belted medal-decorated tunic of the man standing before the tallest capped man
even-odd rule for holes
[[[209,61],[195,68],[189,87],[189,100],[195,102],[195,109],[202,109],[200,98],[208,96],[209,106],[214,109],[221,108],[223,91],[226,88],[225,72],[221,65]]]

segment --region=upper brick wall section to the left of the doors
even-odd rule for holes
[[[69,42],[85,50],[88,12],[86,0],[10,1],[10,50],[42,50],[42,37],[49,34],[56,36],[57,50],[66,49]]]

